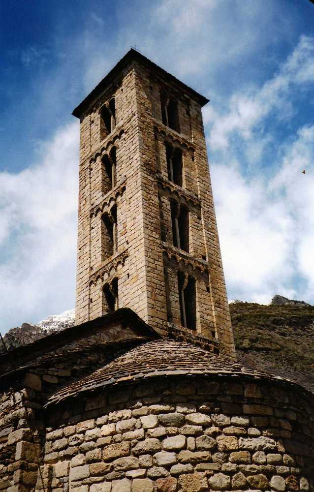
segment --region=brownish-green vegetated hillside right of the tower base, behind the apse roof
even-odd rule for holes
[[[239,362],[314,391],[314,306],[229,307]]]

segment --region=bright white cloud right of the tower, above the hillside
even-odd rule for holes
[[[246,180],[237,163],[211,167],[229,296],[268,304],[280,293],[314,304],[314,125],[284,145],[270,181]],[[293,287],[296,277],[303,286]]]

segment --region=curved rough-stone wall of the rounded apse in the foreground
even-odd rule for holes
[[[36,490],[310,491],[314,397],[290,383],[180,377],[48,407]]]

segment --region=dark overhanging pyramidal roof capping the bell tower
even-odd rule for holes
[[[144,57],[141,53],[131,48],[125,56],[110,70],[110,72],[96,85],[92,92],[90,92],[85,99],[73,110],[72,115],[76,118],[80,118],[82,113],[88,109],[88,107],[96,101],[97,97],[102,94],[103,90],[117,77],[119,73],[131,62],[137,61],[146,65],[151,70],[157,70],[162,74],[164,80],[169,82],[175,82],[178,86],[181,86],[185,92],[189,92],[201,105],[205,106],[209,102],[205,96],[191,89],[186,84],[177,79],[174,75],[167,72],[156,63],[152,62],[148,58]]]

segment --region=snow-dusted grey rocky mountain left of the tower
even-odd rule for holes
[[[45,337],[50,333],[57,332],[74,325],[75,310],[69,309],[61,314],[52,314],[46,319],[38,321],[35,325],[31,323],[23,323],[21,326],[11,328],[3,337],[3,341],[7,350],[27,345],[38,338]],[[0,352],[4,351],[4,347],[0,344]]]

